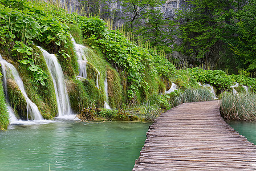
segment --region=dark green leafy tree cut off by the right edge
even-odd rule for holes
[[[232,11],[231,25],[226,30],[231,34],[225,37],[228,47],[234,52],[239,67],[256,71],[256,1],[241,2]],[[240,9],[240,10],[239,10]]]

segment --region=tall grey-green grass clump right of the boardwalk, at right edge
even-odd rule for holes
[[[256,95],[250,92],[240,92],[236,95],[224,92],[221,95],[220,111],[224,119],[256,120]]]

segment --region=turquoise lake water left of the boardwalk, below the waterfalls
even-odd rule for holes
[[[52,121],[0,131],[0,170],[132,170],[151,123]]]

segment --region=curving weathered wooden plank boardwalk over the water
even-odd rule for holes
[[[133,170],[256,170],[256,147],[220,115],[218,101],[185,103],[149,127]]]

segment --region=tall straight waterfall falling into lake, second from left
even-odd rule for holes
[[[43,48],[38,48],[42,51],[48,70],[51,73],[51,77],[54,83],[55,95],[58,104],[58,116],[71,115],[70,99],[68,97],[66,84],[64,82],[64,75],[62,68],[58,63],[58,60],[54,54],[49,54]]]

